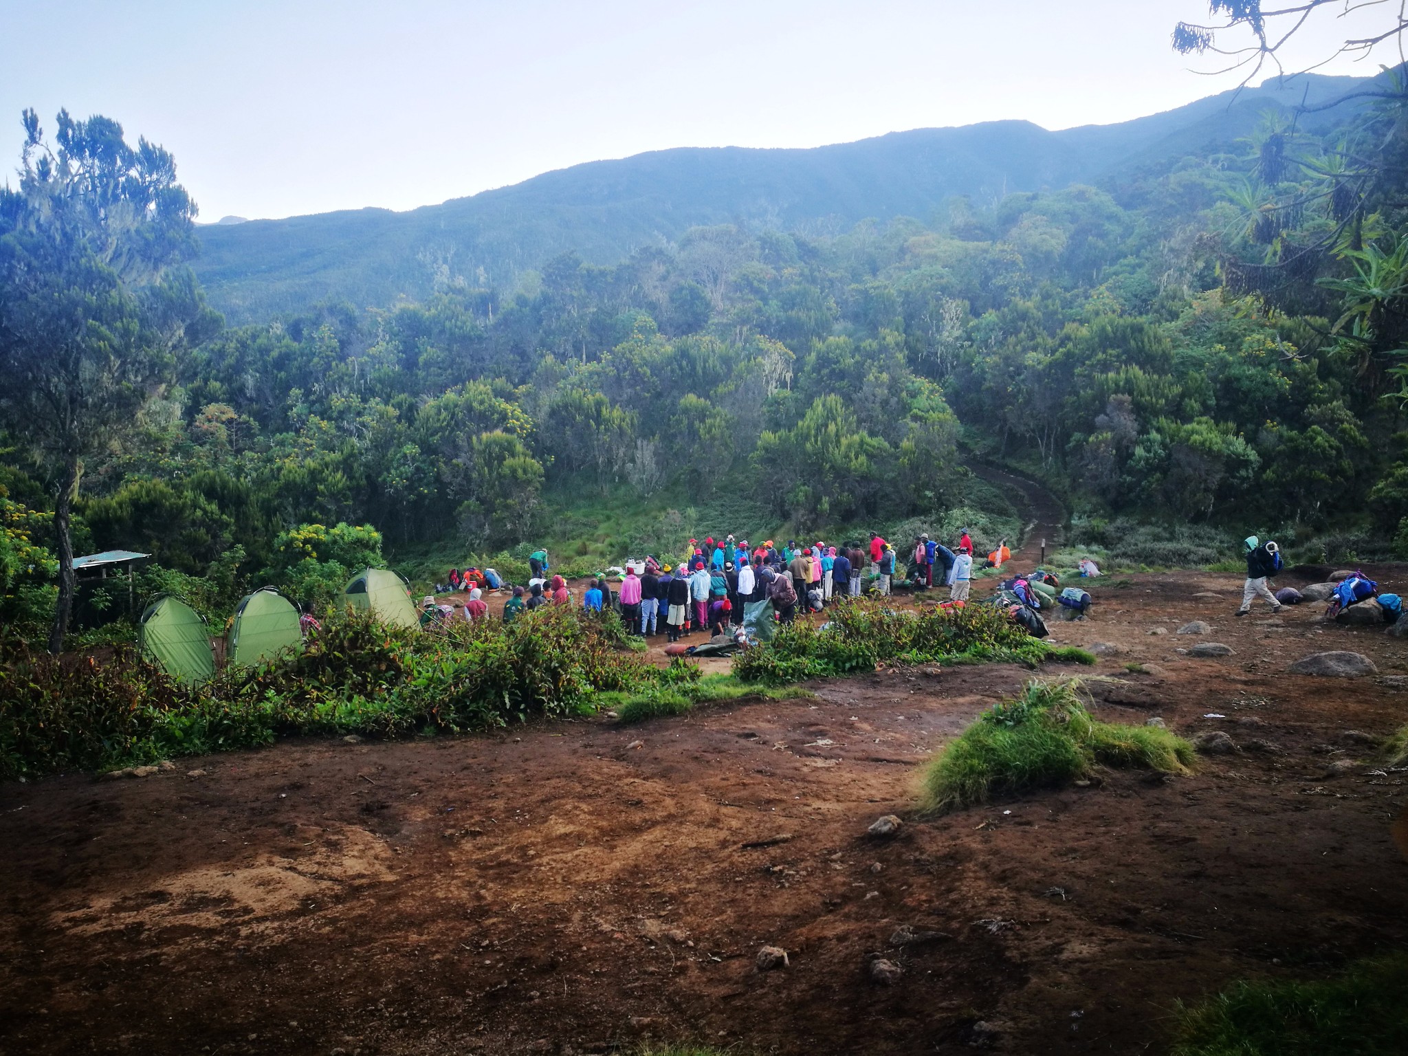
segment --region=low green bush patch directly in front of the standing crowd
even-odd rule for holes
[[[794,621],[780,627],[772,642],[739,653],[734,673],[743,681],[781,686],[872,672],[883,662],[1035,665],[1052,656],[1050,646],[991,605],[910,612],[888,608],[884,598],[841,598],[828,611],[826,624]]]

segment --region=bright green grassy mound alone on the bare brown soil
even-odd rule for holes
[[[1095,763],[1187,773],[1193,745],[1156,727],[1097,722],[1077,684],[1032,680],[1019,697],[984,711],[931,762],[922,808],[943,812],[993,796],[1063,784]]]

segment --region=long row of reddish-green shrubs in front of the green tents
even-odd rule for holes
[[[75,659],[0,638],[0,777],[248,748],[283,734],[394,736],[563,717],[598,690],[660,677],[620,646],[620,621],[558,607],[445,634],[346,615],[297,656],[187,687],[131,646]]]

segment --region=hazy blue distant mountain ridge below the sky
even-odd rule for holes
[[[1288,114],[1363,86],[1301,75],[1115,125],[1049,132],[1026,121],[894,132],[810,151],[674,149],[549,172],[513,187],[410,213],[367,208],[201,228],[194,262],[232,322],[263,321],[327,298],[358,307],[424,300],[446,283],[513,286],[563,252],[614,265],[669,246],[691,227],[834,237],[872,218],[948,214],[949,200],[1110,184],[1188,153],[1235,149],[1267,108]],[[1362,107],[1300,117],[1322,132]]]

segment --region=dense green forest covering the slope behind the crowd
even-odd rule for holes
[[[1017,524],[972,456],[1045,480],[1090,545],[1155,521],[1183,543],[1209,525],[1408,549],[1408,108],[1400,80],[1374,83],[1397,97],[1314,134],[1271,107],[1232,149],[1100,186],[826,235],[697,227],[610,266],[566,252],[504,287],[445,272],[418,303],[241,327],[189,270],[170,158],[66,115],[45,153],[32,118],[0,200],[23,293],[0,308],[3,617],[52,617],[56,517],[77,552],[149,552],[145,590],[220,614],[265,580],[325,603],[383,555],[424,577],[542,541],[583,567],[703,531],[963,521],[983,542]],[[24,286],[46,259],[35,201],[62,213],[114,166],[156,227],[114,234],[115,206],[83,221],[106,256],[55,289],[104,306],[104,331],[54,348],[76,349],[72,377],[96,346],[142,369],[69,408],[101,404],[101,428],[55,438],[44,365],[17,366],[54,294]],[[1132,559],[1214,560],[1208,538]]]

